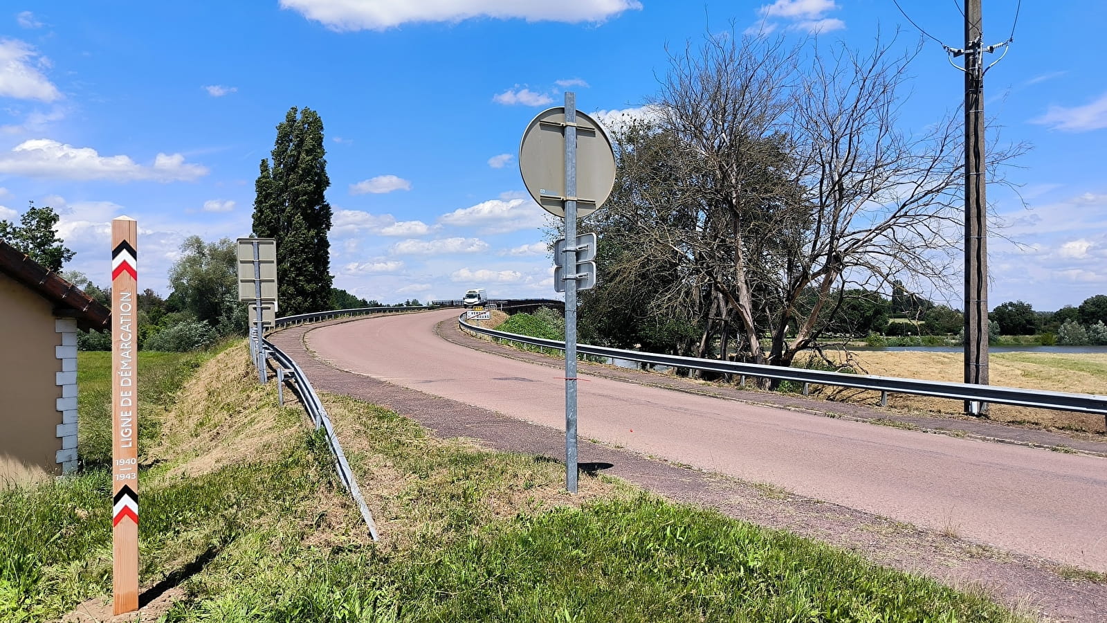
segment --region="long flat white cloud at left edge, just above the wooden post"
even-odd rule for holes
[[[102,156],[92,147],[74,147],[49,139],[24,141],[0,154],[0,174],[30,177],[175,182],[196,180],[207,172],[205,166],[186,163],[180,154],[159,153],[153,166],[143,166],[125,155]]]

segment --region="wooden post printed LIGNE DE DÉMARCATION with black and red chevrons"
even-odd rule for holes
[[[138,223],[112,219],[112,594],[138,610]]]

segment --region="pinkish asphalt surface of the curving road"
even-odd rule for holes
[[[456,315],[368,318],[307,340],[342,369],[565,430],[563,371],[437,337]],[[581,378],[582,439],[1107,572],[1105,459]]]

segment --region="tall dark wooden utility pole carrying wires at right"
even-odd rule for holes
[[[984,52],[981,0],[965,0],[965,382],[987,385],[987,203],[984,164]],[[987,404],[965,400],[965,413]]]

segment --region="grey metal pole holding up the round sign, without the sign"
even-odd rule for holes
[[[577,492],[577,94],[565,93],[565,488]],[[571,277],[570,277],[571,275]]]

